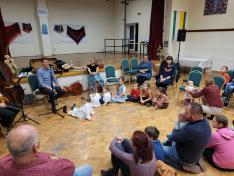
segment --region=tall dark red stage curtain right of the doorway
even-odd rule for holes
[[[157,49],[162,44],[165,0],[152,0],[148,53],[151,60],[157,59]]]

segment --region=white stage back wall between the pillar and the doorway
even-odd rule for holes
[[[85,42],[54,44],[53,54],[104,51],[104,39],[113,38],[114,5],[104,0],[47,0],[49,24],[84,25]]]

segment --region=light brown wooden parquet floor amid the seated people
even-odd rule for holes
[[[127,86],[128,90],[132,86]],[[153,87],[154,89],[154,87]],[[114,87],[111,90],[115,94]],[[40,122],[38,129],[41,139],[41,151],[51,152],[60,157],[69,158],[77,166],[89,163],[94,168],[94,176],[100,175],[101,169],[111,166],[109,144],[113,136],[130,137],[135,130],[144,130],[146,126],[156,126],[161,134],[160,140],[171,132],[181,104],[175,103],[177,91],[170,91],[170,106],[166,110],[155,110],[134,103],[109,104],[95,109],[92,121],[81,121],[70,116],[61,118],[57,115],[37,116],[47,111],[46,105],[38,102],[26,107],[28,114]],[[182,96],[181,96],[182,97]],[[73,103],[80,104],[80,96],[66,97],[59,100],[69,108]],[[224,114],[234,119],[234,110],[227,108]],[[0,155],[7,154],[5,139],[0,138]],[[233,173],[220,172],[205,162],[207,171],[198,176],[231,176]],[[181,176],[193,174],[178,172]]]

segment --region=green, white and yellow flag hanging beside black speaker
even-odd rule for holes
[[[173,29],[172,29],[172,41],[177,38],[177,33],[179,29],[185,29],[186,25],[186,15],[185,11],[174,11],[173,12]]]

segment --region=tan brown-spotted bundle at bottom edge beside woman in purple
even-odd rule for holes
[[[156,162],[155,176],[177,176],[177,173],[172,167],[168,166],[163,161],[158,160]]]

